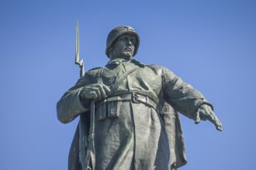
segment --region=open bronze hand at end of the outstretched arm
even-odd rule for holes
[[[222,124],[216,114],[214,114],[212,107],[207,104],[202,104],[195,114],[195,124],[199,124],[200,121],[212,122],[218,131],[222,131]]]

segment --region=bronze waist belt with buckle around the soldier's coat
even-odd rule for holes
[[[109,97],[109,98],[106,98],[105,100],[100,101],[96,105],[96,107],[111,101],[125,101],[125,100],[131,100],[134,104],[142,103],[142,104],[149,105],[150,107],[157,108],[157,102],[150,99],[150,97],[140,93],[126,93],[126,94],[121,94],[119,96]]]

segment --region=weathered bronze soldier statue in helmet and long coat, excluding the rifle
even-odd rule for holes
[[[132,27],[112,29],[106,41],[109,63],[88,70],[58,101],[57,117],[62,123],[81,116],[69,170],[174,170],[185,165],[178,112],[196,124],[211,121],[222,131],[213,105],[202,93],[163,66],[133,59],[139,45],[140,37]],[[95,100],[94,122],[90,122],[91,100]],[[95,128],[92,147],[88,147],[90,124]],[[92,152],[85,162],[88,149]]]

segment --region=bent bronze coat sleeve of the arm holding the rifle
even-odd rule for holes
[[[79,114],[85,113],[88,109],[84,101],[81,101],[79,94],[82,87],[91,82],[90,76],[85,73],[78,82],[67,90],[66,93],[57,102],[57,118],[61,123],[68,123],[73,121]]]

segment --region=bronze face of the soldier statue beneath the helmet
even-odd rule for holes
[[[116,56],[115,58],[132,58],[136,40],[135,36],[120,36],[112,46],[112,54]]]

